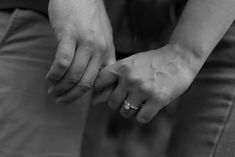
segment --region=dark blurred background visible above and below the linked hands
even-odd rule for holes
[[[106,0],[117,59],[165,45],[186,0]],[[91,106],[84,157],[164,157],[180,100],[164,108],[150,124],[124,119],[105,104]],[[92,151],[90,151],[92,150]]]

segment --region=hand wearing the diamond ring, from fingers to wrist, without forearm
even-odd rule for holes
[[[112,109],[120,109],[124,117],[136,115],[139,122],[150,122],[160,109],[190,86],[196,75],[182,55],[187,52],[180,51],[167,45],[102,69],[95,88],[103,94],[96,100],[107,102]]]

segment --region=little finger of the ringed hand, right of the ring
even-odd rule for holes
[[[149,123],[160,109],[161,105],[157,102],[147,101],[138,112],[136,119],[140,123]]]

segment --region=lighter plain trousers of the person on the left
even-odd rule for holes
[[[0,156],[78,157],[89,93],[69,106],[47,94],[57,48],[48,18],[0,11]]]

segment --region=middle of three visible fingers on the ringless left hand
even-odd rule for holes
[[[90,59],[90,52],[86,51],[82,47],[78,48],[67,74],[58,84],[53,85],[48,92],[56,96],[60,96],[65,92],[68,92],[68,90],[74,87],[81,80],[82,75],[90,63]]]

